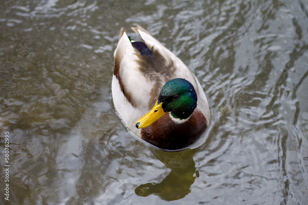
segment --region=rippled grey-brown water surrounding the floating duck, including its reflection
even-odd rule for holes
[[[15,3],[0,2],[1,204],[308,204],[306,0]],[[117,116],[113,51],[136,24],[199,79],[199,148],[150,148]]]

